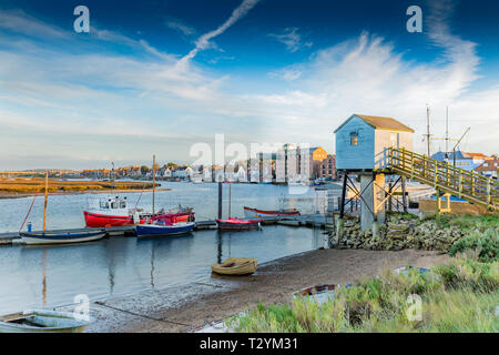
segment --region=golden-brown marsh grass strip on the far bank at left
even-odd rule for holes
[[[82,192],[99,190],[141,190],[151,189],[152,183],[143,182],[101,182],[101,181],[63,181],[49,179],[49,193],[54,192]],[[22,194],[42,193],[45,191],[45,181],[41,178],[32,179],[3,179],[0,180],[0,193]]]

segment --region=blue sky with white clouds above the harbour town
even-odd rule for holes
[[[427,105],[435,138],[448,106],[461,150],[498,153],[498,17],[492,0],[0,0],[0,170],[191,163],[216,134],[334,153],[353,113],[401,121],[424,153]]]

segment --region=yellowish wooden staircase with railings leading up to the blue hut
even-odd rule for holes
[[[388,169],[488,210],[499,210],[499,183],[406,149],[389,148]]]

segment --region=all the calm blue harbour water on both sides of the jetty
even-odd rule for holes
[[[215,216],[216,184],[165,183],[163,186],[174,190],[159,192],[157,206],[182,203],[194,206],[198,220]],[[243,205],[279,207],[283,192],[287,189],[233,184],[233,215],[242,216]],[[139,194],[128,196],[134,204]],[[88,197],[51,196],[49,227],[83,226],[82,210]],[[30,217],[34,229],[40,226],[37,220],[43,214],[43,199],[40,200]],[[147,206],[151,200],[150,194],[144,194],[140,205]],[[286,195],[285,206],[312,212],[314,200],[313,191]],[[1,200],[2,230],[18,230],[30,203],[31,199]],[[162,239],[112,237],[81,245],[4,246],[0,247],[0,314],[70,304],[78,294],[98,300],[201,281],[210,276],[210,264],[228,256],[257,257],[258,263],[264,263],[323,245],[320,230],[264,226],[261,231],[200,231]]]

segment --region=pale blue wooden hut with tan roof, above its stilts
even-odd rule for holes
[[[413,151],[414,130],[391,118],[353,114],[336,131],[336,169],[381,170],[387,148]]]

